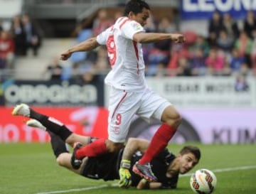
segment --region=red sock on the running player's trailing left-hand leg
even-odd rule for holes
[[[75,153],[75,158],[95,157],[107,153],[106,139],[97,139],[87,146],[83,146]]]

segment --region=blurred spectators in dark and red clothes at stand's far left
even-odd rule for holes
[[[40,46],[41,34],[27,14],[14,16],[6,26],[0,21],[0,70],[14,68],[15,58],[28,50],[37,56]]]

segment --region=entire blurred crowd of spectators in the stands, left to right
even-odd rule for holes
[[[100,9],[91,21],[88,18],[82,21],[73,32],[75,43],[97,36],[122,16],[121,11],[109,14]],[[149,18],[145,28],[147,32],[176,33],[179,30],[173,19],[163,17],[156,21],[154,16]],[[29,16],[15,16],[9,31],[1,26],[0,29],[0,68],[11,68],[14,56],[25,56],[28,49],[38,55],[41,36]],[[185,44],[161,41],[143,45],[146,76],[256,75],[256,17],[252,11],[247,12],[242,25],[230,14],[215,11],[208,21],[208,36],[194,31],[181,33],[186,36]],[[110,69],[104,47],[89,53],[75,53],[70,62],[71,66],[62,67],[54,58],[46,69],[50,79],[91,82],[95,78],[103,79]]]

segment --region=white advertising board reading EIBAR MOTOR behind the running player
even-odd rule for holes
[[[149,77],[147,83],[175,107],[256,107],[256,81],[236,90],[235,77]]]

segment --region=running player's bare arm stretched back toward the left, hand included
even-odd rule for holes
[[[89,38],[86,41],[83,41],[82,43],[79,43],[78,45],[74,45],[73,47],[69,48],[68,50],[65,50],[63,53],[60,54],[60,60],[68,60],[72,53],[80,52],[80,51],[90,51],[100,46],[99,43],[97,43],[96,37]]]

